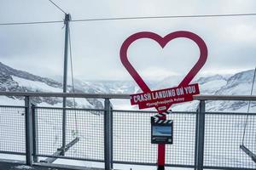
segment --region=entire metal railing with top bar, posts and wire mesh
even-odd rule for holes
[[[56,159],[155,166],[157,145],[150,140],[155,111],[114,110],[110,99],[124,94],[0,93],[24,96],[24,106],[0,105],[0,153],[26,156],[26,164]],[[105,99],[104,109],[73,109],[32,105],[32,97]],[[256,113],[207,112],[209,100],[253,100],[256,96],[196,96],[198,110],[168,115],[174,121],[173,144],[166,145],[166,167],[194,169],[255,169]],[[67,122],[63,125],[65,110]],[[247,127],[245,131],[245,123]],[[62,130],[66,128],[66,146]],[[242,138],[244,136],[244,142]],[[249,154],[241,149],[249,150]],[[255,157],[254,157],[255,159]]]

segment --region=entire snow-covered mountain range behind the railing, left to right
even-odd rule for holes
[[[150,82],[152,89],[170,88],[177,86],[181,77],[166,77],[160,82]],[[242,71],[229,77],[215,75],[211,77],[200,77],[198,82],[201,94],[212,95],[249,95],[253,83],[253,70]],[[141,92],[135,82],[129,81],[85,81],[75,79],[75,91],[89,94],[135,94]],[[0,90],[20,92],[61,92],[61,78],[55,80],[45,77],[38,77],[26,71],[15,70],[8,65],[0,63]],[[72,87],[68,86],[68,91]],[[256,88],[253,89],[253,94]],[[131,107],[128,99],[112,100],[116,109],[137,109]],[[23,105],[24,101],[19,97],[0,96],[2,105]],[[62,105],[61,98],[33,98],[37,105]],[[67,100],[68,106],[73,106],[73,100]],[[102,108],[100,99],[76,99],[76,105],[87,108]],[[174,111],[195,111],[198,101],[173,105]],[[207,111],[247,111],[248,102],[242,101],[207,101]],[[252,102],[250,111],[256,110],[256,103]]]

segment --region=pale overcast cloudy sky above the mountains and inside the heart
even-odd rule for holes
[[[0,23],[62,20],[64,14],[49,0],[0,0]],[[255,0],[54,0],[73,20],[256,13]],[[119,59],[122,42],[138,31],[164,37],[172,31],[192,31],[208,48],[201,75],[231,74],[256,65],[256,15],[216,18],[105,20],[71,23],[74,77],[87,80],[131,80]],[[0,26],[0,62],[43,77],[61,76],[63,23]],[[166,48],[147,39],[129,48],[131,64],[145,79],[184,75],[195,65],[195,42],[178,38]],[[69,71],[70,75],[70,71]]]

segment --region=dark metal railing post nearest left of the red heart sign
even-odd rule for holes
[[[113,147],[112,147],[112,106],[109,99],[105,99],[104,111],[104,161],[105,169],[113,168]]]

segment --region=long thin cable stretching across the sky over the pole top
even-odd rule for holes
[[[63,11],[62,11],[63,12]],[[64,11],[65,12],[65,11]],[[65,13],[66,14],[66,13]],[[166,15],[166,16],[142,16],[142,17],[117,17],[117,18],[99,18],[99,19],[80,19],[70,20],[71,22],[89,22],[105,20],[150,20],[150,19],[175,19],[175,18],[213,18],[213,17],[238,17],[238,16],[256,16],[256,13],[247,14],[196,14],[196,15]],[[10,22],[0,23],[0,26],[10,25],[31,25],[31,24],[53,24],[63,22],[63,20],[32,21],[32,22]]]

